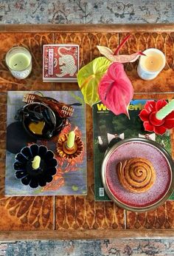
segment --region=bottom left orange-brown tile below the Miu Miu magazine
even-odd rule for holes
[[[0,231],[54,229],[53,197],[0,197]]]

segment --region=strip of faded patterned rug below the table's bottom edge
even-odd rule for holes
[[[36,240],[1,243],[6,256],[146,256],[174,255],[174,241],[164,240]]]

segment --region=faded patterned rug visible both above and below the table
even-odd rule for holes
[[[1,24],[173,23],[173,0],[1,0]],[[174,255],[173,239],[0,242],[0,255]]]

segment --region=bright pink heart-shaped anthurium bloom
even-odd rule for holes
[[[113,63],[103,75],[98,87],[100,100],[115,115],[128,115],[128,106],[133,98],[133,87],[121,63]]]

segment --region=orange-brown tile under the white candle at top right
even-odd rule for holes
[[[132,54],[147,48],[158,48],[166,55],[166,65],[156,79],[145,81],[137,74],[138,61],[125,64],[125,70],[133,83],[135,92],[173,92],[174,90],[174,70],[173,70],[173,33],[130,33],[131,36],[120,50],[120,54]],[[119,42],[128,33],[119,34]]]

